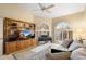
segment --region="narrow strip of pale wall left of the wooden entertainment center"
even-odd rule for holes
[[[0,54],[3,52],[3,18],[0,17]]]

